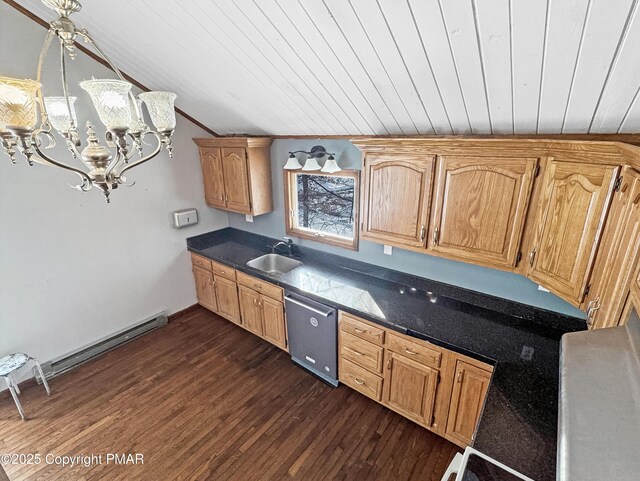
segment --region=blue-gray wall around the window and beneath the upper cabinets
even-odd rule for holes
[[[244,215],[229,214],[229,225],[269,237],[280,238],[284,236],[282,166],[287,160],[289,151],[310,150],[312,146],[317,144],[324,145],[329,152],[336,152],[340,167],[358,170],[362,168],[360,150],[347,140],[275,140],[271,147],[274,212],[254,217],[253,223],[246,222]],[[524,304],[584,318],[582,311],[551,293],[538,290],[537,284],[517,274],[442,259],[396,247],[393,248],[393,254],[388,256],[383,254],[383,246],[381,244],[367,241],[360,241],[360,250],[356,252],[302,239],[296,239],[296,243]]]

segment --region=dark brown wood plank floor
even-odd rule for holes
[[[12,481],[440,481],[457,448],[198,309],[22,393],[0,398],[0,453],[142,453],[144,465],[4,464]]]

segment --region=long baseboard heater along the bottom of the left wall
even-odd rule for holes
[[[109,336],[107,338],[101,339],[97,342],[94,342],[90,346],[86,346],[82,349],[72,352],[71,354],[66,354],[57,359],[42,363],[42,371],[44,372],[44,376],[47,379],[54,378],[59,376],[62,373],[70,371],[71,369],[84,364],[91,359],[94,359],[108,351],[115,349],[116,347],[122,346],[129,341],[133,341],[134,339],[147,334],[159,327],[167,324],[168,318],[166,312],[161,312],[152,316],[144,321],[135,324],[133,327],[129,327],[123,331],[117,332],[116,334]],[[37,372],[34,370],[34,377],[40,383],[39,376]]]

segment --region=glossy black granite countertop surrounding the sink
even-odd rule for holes
[[[535,481],[555,480],[560,338],[584,321],[296,246],[281,276],[248,267],[276,239],[226,228],[188,249],[311,299],[495,365],[474,447]]]

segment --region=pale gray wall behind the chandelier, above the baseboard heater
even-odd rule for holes
[[[45,33],[0,2],[2,74],[35,78]],[[57,55],[54,44],[45,95],[61,93]],[[91,119],[102,137],[104,128],[78,81],[113,73],[83,53],[69,67],[81,128],[82,119]],[[178,116],[175,158],[162,153],[132,170],[128,177],[136,185],[114,191],[109,205],[95,189],[69,188],[77,183],[74,174],[29,167],[23,158],[11,165],[0,151],[0,356],[24,351],[50,360],[159,311],[173,313],[196,302],[185,239],[228,225],[225,212],[204,203],[191,138],[207,135]],[[62,138],[57,140],[53,154],[73,162]],[[176,230],[170,213],[185,207],[198,208],[200,224]]]

